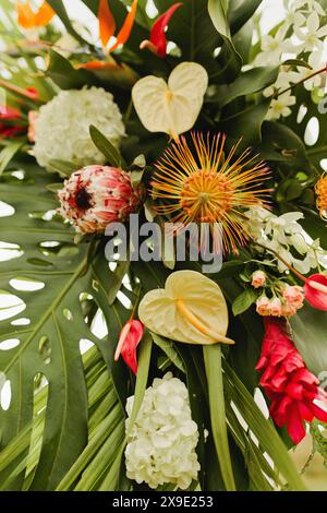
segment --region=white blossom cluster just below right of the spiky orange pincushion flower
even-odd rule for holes
[[[252,207],[245,213],[249,222],[246,227],[252,237],[261,244],[275,251],[299,273],[307,274],[324,264],[327,252],[320,248],[319,239],[311,240],[298,220],[304,216],[301,212],[288,212],[277,216],[263,207]],[[294,249],[299,258],[294,256]],[[288,271],[287,265],[278,260],[280,272]]]

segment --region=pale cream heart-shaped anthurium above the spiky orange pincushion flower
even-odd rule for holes
[[[168,83],[149,75],[132,90],[135,110],[149,132],[171,138],[192,129],[203,106],[208,74],[196,62],[182,62],[171,72]]]

